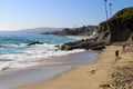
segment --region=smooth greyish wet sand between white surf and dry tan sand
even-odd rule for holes
[[[98,52],[84,51],[39,60],[41,65],[31,68],[0,71],[0,89],[52,79],[72,67],[91,63],[96,57]]]

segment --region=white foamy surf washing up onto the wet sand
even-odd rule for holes
[[[21,44],[21,46],[27,46],[27,44]],[[27,48],[27,50],[24,50],[23,53],[1,55],[0,70],[10,69],[10,68],[18,69],[18,68],[31,67],[41,63],[38,60],[45,60],[44,58],[49,58],[53,56],[64,56],[69,53],[84,51],[83,49],[75,49],[72,51],[62,51],[62,50],[55,51],[57,48],[54,46],[55,44],[47,44],[47,43],[35,44]]]

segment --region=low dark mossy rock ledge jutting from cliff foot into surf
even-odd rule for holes
[[[102,50],[105,48],[104,41],[93,41],[93,40],[80,40],[75,42],[68,42],[62,44],[61,50],[72,50],[72,49],[92,49],[92,50]]]

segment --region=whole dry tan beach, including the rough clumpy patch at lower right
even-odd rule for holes
[[[116,61],[115,50],[121,52]],[[13,89],[133,89],[133,49],[127,47],[122,53],[122,47],[110,46],[91,65]]]

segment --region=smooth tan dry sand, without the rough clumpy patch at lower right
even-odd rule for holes
[[[122,51],[120,46],[109,46],[100,53],[98,60],[91,65],[72,68],[72,70],[60,73],[47,81],[19,86],[12,89],[99,89],[100,87],[111,87],[108,82],[112,79],[110,77],[114,69],[124,66],[129,67],[129,61],[133,61],[133,52],[131,51],[121,53],[121,59],[115,61],[114,52],[116,49]]]

